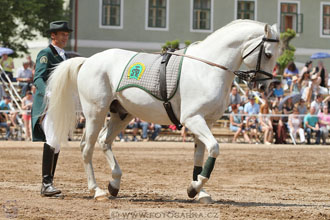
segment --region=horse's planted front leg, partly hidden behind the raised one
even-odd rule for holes
[[[198,181],[197,177],[203,170],[204,153],[205,145],[203,142],[195,138],[193,181]],[[198,200],[201,203],[212,202],[211,196],[207,194],[204,189],[201,189],[198,193]]]

